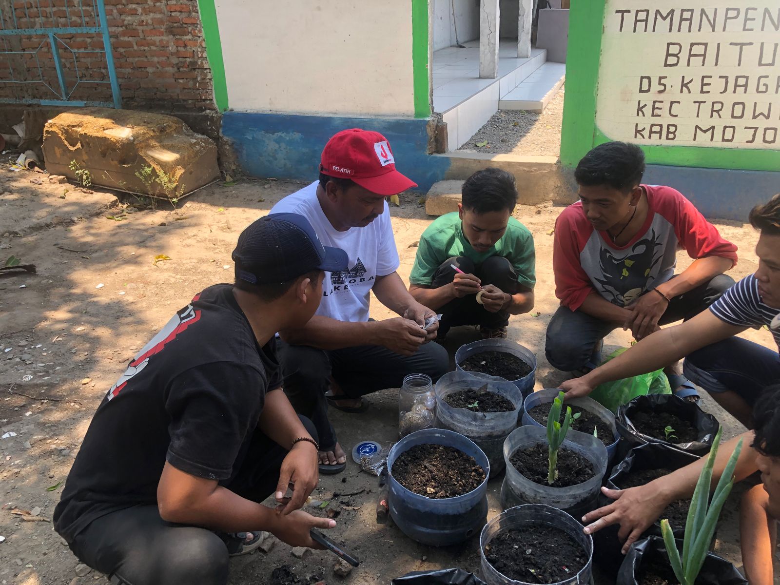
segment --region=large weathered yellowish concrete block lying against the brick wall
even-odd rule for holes
[[[177,199],[219,176],[217,146],[170,115],[79,108],[44,127],[44,158],[52,175],[76,183],[70,168],[90,172],[93,185]]]

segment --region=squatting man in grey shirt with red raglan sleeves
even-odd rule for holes
[[[577,165],[580,200],[555,222],[562,306],[548,325],[545,353],[559,370],[589,371],[613,329],[643,339],[659,324],[699,314],[734,284],[723,272],[736,264],[736,246],[678,191],[640,184],[643,174],[640,147],[623,142],[601,144]],[[678,248],[694,261],[675,275]],[[696,396],[676,365],[666,372],[675,394]]]

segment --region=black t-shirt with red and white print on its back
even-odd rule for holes
[[[137,354],[97,407],[54,513],[73,540],[94,519],[155,504],[167,460],[228,483],[282,385],[275,339],[260,347],[232,293],[195,296]]]

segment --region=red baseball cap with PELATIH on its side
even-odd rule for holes
[[[417,183],[395,170],[390,143],[378,132],[352,128],[335,134],[322,149],[320,172],[378,195],[396,195]]]

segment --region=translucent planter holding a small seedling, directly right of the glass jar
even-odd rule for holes
[[[467,408],[453,408],[445,398],[453,392],[477,389],[488,385],[488,392],[495,392],[512,402],[515,410],[502,413],[475,413]],[[436,383],[436,426],[456,431],[474,441],[488,456],[490,477],[504,470],[504,441],[517,427],[517,417],[523,405],[523,394],[512,382],[497,376],[479,372],[454,371],[442,376]]]

